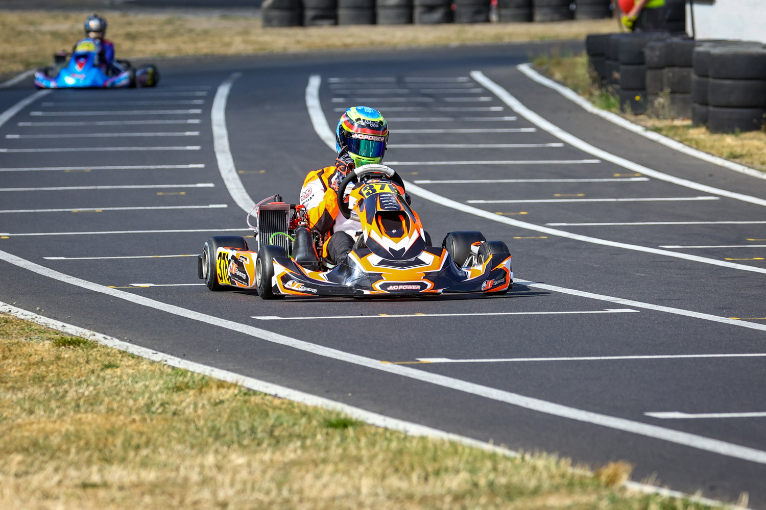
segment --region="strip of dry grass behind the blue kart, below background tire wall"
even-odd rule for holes
[[[0,11],[0,74],[51,61],[71,50],[88,12]],[[118,57],[234,55],[300,50],[362,50],[444,44],[582,39],[614,30],[614,20],[557,23],[368,25],[261,28],[260,20],[231,16],[104,14]],[[364,41],[360,44],[360,41]]]

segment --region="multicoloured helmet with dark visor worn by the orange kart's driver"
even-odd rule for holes
[[[352,106],[338,121],[336,151],[345,147],[357,167],[380,163],[387,143],[388,125],[376,109]]]

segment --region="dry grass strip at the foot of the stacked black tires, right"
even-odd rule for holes
[[[613,96],[594,85],[588,72],[588,57],[561,54],[554,51],[533,60],[535,67],[563,83],[576,93],[584,96],[601,109],[619,112],[619,103]],[[766,171],[766,130],[735,133],[732,135],[713,134],[704,127],[692,127],[689,119],[657,119],[650,115],[624,115],[630,121],[690,147],[735,161],[745,166]]]

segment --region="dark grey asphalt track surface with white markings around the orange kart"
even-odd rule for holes
[[[748,491],[751,507],[764,508],[766,373],[764,358],[750,355],[766,353],[766,207],[595,157],[525,119],[491,84],[564,132],[655,171],[761,200],[766,181],[627,132],[529,80],[515,65],[541,48],[187,61],[163,67],[156,89],[38,97],[0,127],[0,300],[512,449],[591,465],[625,459],[636,466],[633,479],[656,474],[672,489],[729,501]],[[358,70],[380,80],[357,80]],[[250,233],[234,232],[244,212],[214,151],[219,86],[233,80],[225,125],[247,194],[296,202],[306,173],[333,159],[306,106],[313,75],[333,128],[346,106],[386,115],[386,161],[417,191],[413,206],[435,242],[451,230],[481,230],[510,246],[517,281],[548,287],[517,283],[494,298],[264,301],[201,285],[195,255],[205,239]],[[28,81],[0,91],[0,112],[33,92]],[[427,129],[485,132],[417,131]],[[104,133],[119,135],[80,136]],[[445,180],[486,182],[434,182]],[[119,188],[92,188],[103,186]],[[83,189],[12,190],[42,187]],[[476,200],[516,202],[469,203]],[[191,232],[125,233],[174,229]],[[107,231],[120,233],[62,233]],[[159,305],[136,303],[143,298]],[[196,312],[211,319],[190,318]],[[328,316],[340,318],[315,318]],[[712,354],[723,356],[703,356]]]

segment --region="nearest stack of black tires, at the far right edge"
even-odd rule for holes
[[[766,48],[704,41],[694,49],[692,123],[710,132],[761,129],[766,123]]]

